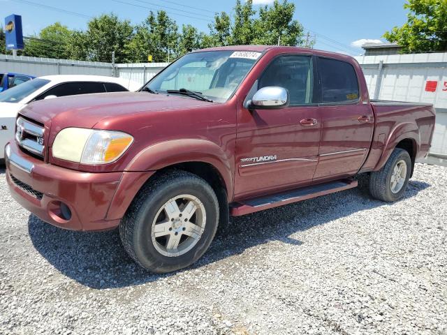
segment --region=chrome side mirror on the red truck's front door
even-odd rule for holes
[[[290,103],[288,91],[283,87],[268,86],[257,91],[251,102],[250,107],[273,110],[287,107]]]

